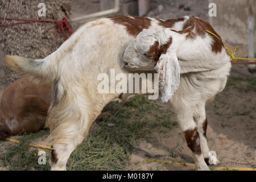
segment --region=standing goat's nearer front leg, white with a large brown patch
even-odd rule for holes
[[[209,170],[207,164],[205,163],[204,156],[201,152],[200,136],[196,130],[196,123],[195,121],[193,121],[193,114],[187,108],[183,110],[183,113],[177,114],[177,117],[179,119],[181,129],[185,133],[187,145],[193,152],[196,168],[200,171]]]

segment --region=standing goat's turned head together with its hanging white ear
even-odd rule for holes
[[[128,70],[158,72],[163,102],[170,100],[180,82],[180,65],[171,43],[170,28],[147,29],[129,44],[123,56]]]

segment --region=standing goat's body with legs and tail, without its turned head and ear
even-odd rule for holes
[[[207,21],[195,16],[164,21],[120,15],[84,24],[57,51],[44,59],[34,60],[19,56],[5,58],[5,63],[14,71],[53,84],[53,104],[47,119],[47,126],[51,130],[49,139],[54,148],[51,158],[53,170],[66,168],[69,155],[86,137],[93,121],[106,104],[113,100],[126,100],[134,95],[99,93],[98,75],[106,73],[110,77],[110,69],[127,77],[129,73],[134,73],[124,67],[123,56],[126,48],[144,29],[159,27],[171,28],[177,34],[184,35],[184,44],[189,43],[189,46],[184,46],[177,54],[180,82],[169,103],[174,106],[188,147],[195,156],[197,168],[208,169],[205,163],[209,158],[205,138],[205,102],[224,89],[231,67],[221,41],[205,30],[217,33]],[[205,43],[197,44],[197,39],[205,40]],[[154,44],[151,40],[150,43]],[[164,57],[168,47],[172,45],[165,43],[167,40],[159,39],[159,44],[155,47],[157,54],[152,51],[155,61],[153,64],[157,64],[159,58]],[[147,48],[150,46],[153,45],[148,44]],[[199,48],[196,51],[205,56],[205,59],[196,59],[198,55],[195,57],[193,54],[195,48]],[[144,51],[146,50],[145,48]],[[139,60],[147,59],[148,56],[153,55],[142,53]]]

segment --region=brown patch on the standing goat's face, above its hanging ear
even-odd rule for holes
[[[170,37],[168,42],[166,44],[160,45],[159,42],[155,41],[154,44],[150,47],[150,49],[147,51],[146,56],[150,57],[151,59],[155,60],[156,62],[159,60],[159,57],[162,54],[165,54],[167,52],[167,49],[172,44],[172,38]]]

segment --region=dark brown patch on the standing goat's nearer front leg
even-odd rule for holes
[[[185,131],[185,139],[187,140],[188,147],[196,155],[201,154],[200,138],[196,129]]]

